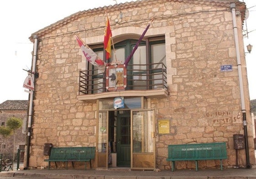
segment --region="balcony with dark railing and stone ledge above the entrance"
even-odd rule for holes
[[[97,67],[96,67],[97,68]],[[124,90],[106,86],[106,70],[81,71],[78,100],[95,100],[109,97],[167,97],[167,69],[163,63],[128,65]]]

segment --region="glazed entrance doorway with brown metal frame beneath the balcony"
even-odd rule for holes
[[[99,112],[97,167],[154,169],[154,109]]]

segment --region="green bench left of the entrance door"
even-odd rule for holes
[[[91,159],[95,157],[95,147],[53,147],[49,159],[45,159],[48,162],[48,169],[50,169],[51,162],[66,162],[66,169],[68,169],[68,162],[86,162],[90,163],[90,168],[92,168]]]

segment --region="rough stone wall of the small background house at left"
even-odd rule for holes
[[[26,110],[1,110],[0,111],[0,124],[3,122],[6,125],[6,120],[10,117],[15,116],[23,120],[22,128],[18,129],[15,133],[15,146],[14,146],[14,134],[7,138],[3,138],[0,135],[0,153],[3,153],[3,158],[13,159],[13,151],[17,153],[19,145],[25,145],[26,140]],[[5,148],[2,148],[5,144]]]

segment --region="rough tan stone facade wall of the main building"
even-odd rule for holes
[[[243,123],[231,12],[207,3],[157,2],[121,9],[120,23],[115,23],[119,10],[108,12],[114,41],[125,34],[140,36],[153,17],[146,36],[166,37],[169,96],[148,99],[149,107],[156,108],[156,124],[161,119],[170,120],[170,133],[157,135],[157,168],[170,168],[166,162],[168,144],[220,141],[226,142],[228,148],[229,159],[224,160],[224,165],[235,165],[233,134],[243,134]],[[43,162],[47,158],[43,156],[44,143],[60,147],[96,145],[96,101],[77,99],[79,71],[85,68],[85,61],[73,33],[77,32],[88,45],[102,44],[105,21],[105,11],[101,9],[81,15],[39,38],[31,167],[47,165]],[[220,66],[225,64],[232,64],[233,71],[220,72]],[[244,58],[242,66],[245,74]],[[248,108],[246,75],[243,78]],[[247,113],[248,119],[250,115]],[[254,164],[250,120],[248,134]],[[239,151],[239,156],[239,163],[244,165],[244,150]],[[219,165],[219,161],[201,161],[199,165],[212,167]],[[193,164],[181,162],[177,167],[192,168]]]

